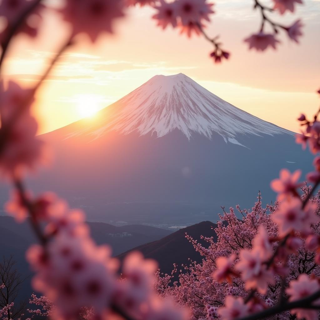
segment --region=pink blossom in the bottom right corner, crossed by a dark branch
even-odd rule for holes
[[[296,301],[310,296],[312,293],[320,290],[320,284],[317,279],[310,279],[307,274],[301,274],[297,280],[292,280],[286,293],[290,296],[289,301]],[[318,303],[319,301],[316,301]],[[297,318],[306,320],[318,320],[318,311],[312,309],[292,309],[291,314]]]

